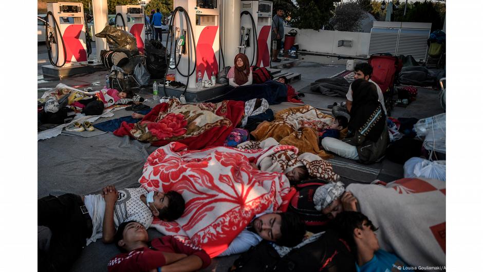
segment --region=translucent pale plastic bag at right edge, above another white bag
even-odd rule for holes
[[[419,138],[424,138],[426,150],[446,153],[446,114],[438,114],[419,120],[414,125]]]

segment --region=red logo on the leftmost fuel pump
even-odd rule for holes
[[[87,61],[87,52],[79,37],[84,25],[70,25],[68,26],[62,38],[64,39],[65,51],[66,51],[66,63],[71,62],[72,57],[78,62]]]

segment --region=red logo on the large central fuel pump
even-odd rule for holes
[[[217,26],[207,26],[199,34],[198,44],[196,44],[196,68],[201,71],[201,75],[208,78],[211,72],[218,73],[218,62],[216,62],[213,42],[215,41]],[[197,74],[198,72],[196,72]]]

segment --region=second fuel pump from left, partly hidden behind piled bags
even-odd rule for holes
[[[131,33],[136,38],[139,52],[144,54],[145,18],[140,5],[116,6],[116,25]]]

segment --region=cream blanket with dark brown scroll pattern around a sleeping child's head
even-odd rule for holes
[[[278,146],[279,143],[273,138],[263,141],[246,141],[238,144],[238,149],[265,149]],[[305,166],[312,178],[322,178],[329,182],[339,180],[339,175],[332,170],[332,165],[327,160],[312,154],[303,153],[297,155],[297,148],[281,150],[270,156],[261,156],[255,161],[255,165],[262,171],[287,173],[295,167]]]

